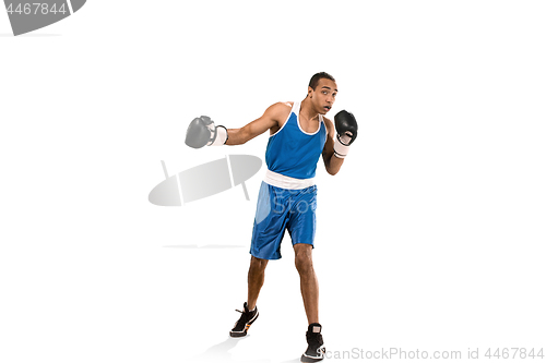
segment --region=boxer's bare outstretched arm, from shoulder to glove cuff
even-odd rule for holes
[[[246,124],[240,129],[227,130],[226,145],[241,145],[265,131],[278,126],[281,120],[286,119],[290,107],[283,102],[270,106],[259,119]]]

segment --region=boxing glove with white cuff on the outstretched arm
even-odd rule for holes
[[[186,132],[186,145],[193,148],[201,148],[205,145],[224,145],[227,141],[227,129],[214,124],[207,116],[193,119]]]

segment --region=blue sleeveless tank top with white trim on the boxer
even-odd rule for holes
[[[270,136],[265,149],[268,169],[296,179],[314,178],[324,143],[327,126],[319,114],[319,130],[307,133],[299,125],[300,104],[294,102],[287,121]]]

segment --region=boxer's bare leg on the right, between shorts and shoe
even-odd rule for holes
[[[312,266],[312,245],[295,244],[294,252],[307,320],[309,324],[319,323],[319,281]]]

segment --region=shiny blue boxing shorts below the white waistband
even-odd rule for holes
[[[285,230],[288,231],[293,245],[297,243],[313,245],[316,210],[317,185],[289,190],[262,181],[250,254],[262,259],[281,258],[281,242]]]

